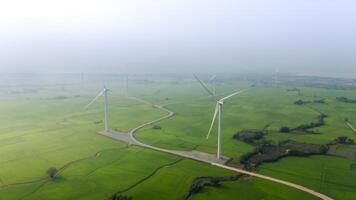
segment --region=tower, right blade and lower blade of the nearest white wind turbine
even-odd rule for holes
[[[222,120],[222,107],[223,107],[224,101],[235,96],[235,95],[245,92],[245,91],[246,90],[240,90],[240,91],[234,92],[226,97],[223,97],[222,99],[220,99],[216,102],[213,120],[211,122],[209,132],[208,132],[208,135],[206,136],[206,139],[209,139],[211,130],[213,129],[213,126],[214,126],[216,116],[218,115],[218,146],[217,146],[216,157],[219,160],[221,159],[221,120]]]

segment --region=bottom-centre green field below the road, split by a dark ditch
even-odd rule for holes
[[[192,177],[199,176],[201,171],[204,171],[204,176],[230,174],[217,168],[184,160],[173,167],[161,170],[149,181],[125,194],[134,199],[175,199],[175,197],[183,199],[193,182]],[[182,182],[184,184],[181,184]],[[152,188],[152,185],[157,187]],[[278,199],[315,199],[303,192],[257,179],[224,182],[217,189],[205,187],[201,193],[193,195],[192,199],[230,199],[237,196],[240,199],[277,199],[276,197]]]

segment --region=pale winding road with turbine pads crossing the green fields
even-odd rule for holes
[[[107,136],[107,137],[110,137],[110,138],[113,138],[115,140],[120,140],[120,141],[127,142],[127,143],[132,144],[132,145],[137,145],[137,146],[141,146],[141,147],[144,147],[144,148],[152,149],[152,150],[155,150],[155,151],[165,152],[165,153],[169,153],[169,154],[172,154],[172,155],[176,155],[176,156],[180,156],[180,157],[184,157],[184,158],[189,158],[189,159],[192,159],[192,160],[197,160],[197,161],[208,163],[208,164],[211,164],[213,166],[220,167],[220,168],[223,168],[223,169],[227,169],[227,170],[230,170],[230,171],[234,171],[234,172],[238,172],[238,173],[241,173],[241,174],[246,174],[246,175],[249,175],[249,176],[265,179],[265,180],[272,181],[272,182],[279,183],[279,184],[283,184],[283,185],[286,185],[288,187],[292,187],[292,188],[301,190],[303,192],[309,193],[309,194],[311,194],[311,195],[313,195],[315,197],[318,197],[320,199],[323,199],[323,200],[333,200],[333,198],[331,198],[331,197],[328,197],[328,196],[326,196],[324,194],[321,194],[319,192],[316,192],[316,191],[314,191],[312,189],[306,188],[306,187],[298,185],[298,184],[294,184],[294,183],[291,183],[291,182],[288,182],[288,181],[284,181],[284,180],[280,180],[280,179],[277,179],[277,178],[273,178],[273,177],[270,177],[270,176],[265,176],[265,175],[262,175],[262,174],[258,174],[258,173],[254,173],[254,172],[238,169],[238,168],[235,168],[235,167],[227,166],[227,165],[225,165],[226,160],[214,159],[215,156],[213,158],[212,155],[210,155],[210,154],[204,154],[202,152],[189,152],[189,151],[169,150],[169,149],[155,147],[155,146],[140,142],[139,140],[137,140],[135,138],[135,132],[137,132],[138,130],[144,128],[145,126],[152,125],[152,124],[157,123],[159,121],[162,121],[164,119],[171,118],[172,116],[174,116],[175,113],[170,111],[170,110],[168,110],[168,109],[166,109],[166,108],[164,108],[164,107],[162,107],[162,106],[151,104],[150,102],[147,102],[147,101],[145,101],[143,99],[139,99],[139,98],[136,98],[136,97],[130,97],[130,98],[131,99],[135,99],[137,101],[144,102],[146,104],[149,104],[149,105],[151,105],[151,106],[153,106],[153,107],[155,107],[155,108],[157,108],[159,110],[167,112],[168,114],[163,116],[163,117],[161,117],[161,118],[159,118],[159,119],[156,119],[156,120],[141,124],[140,126],[132,129],[129,132],[129,134],[127,134],[127,133],[118,133],[118,132],[114,132],[114,131],[100,132],[100,134],[102,134],[104,136]]]

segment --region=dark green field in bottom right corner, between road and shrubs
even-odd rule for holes
[[[335,199],[351,200],[356,196],[355,161],[331,156],[283,158],[263,164],[259,172],[312,188]]]

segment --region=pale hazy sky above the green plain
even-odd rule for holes
[[[356,1],[0,1],[0,72],[276,68],[356,74]]]

